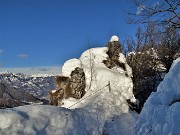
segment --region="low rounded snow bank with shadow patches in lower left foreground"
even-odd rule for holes
[[[0,111],[0,134],[87,135],[75,111],[53,106],[22,106]]]

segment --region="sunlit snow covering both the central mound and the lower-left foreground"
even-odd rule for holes
[[[129,110],[127,99],[136,102],[133,83],[120,67],[107,68],[107,48],[92,48],[79,59],[68,60],[63,75],[80,66],[86,77],[82,99],[64,99],[64,108],[31,105],[0,110],[0,133],[4,135],[134,135],[137,113]],[[124,60],[124,56],[120,54]],[[125,65],[126,61],[124,62]],[[108,85],[110,84],[110,85]],[[67,109],[66,109],[67,108]]]

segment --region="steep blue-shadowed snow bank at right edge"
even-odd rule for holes
[[[180,134],[180,58],[151,94],[136,124],[137,135]]]

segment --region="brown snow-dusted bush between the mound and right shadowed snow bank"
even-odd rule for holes
[[[151,92],[162,81],[161,74],[166,69],[157,55],[157,49],[147,46],[140,52],[129,53],[127,62],[133,71],[133,92],[142,108]]]

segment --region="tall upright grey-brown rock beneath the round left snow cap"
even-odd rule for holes
[[[80,99],[84,96],[86,81],[82,68],[76,67],[75,70],[71,72],[70,87],[74,98]]]

